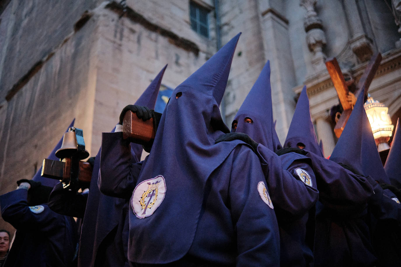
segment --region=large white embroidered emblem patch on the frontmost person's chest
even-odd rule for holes
[[[148,217],[160,206],[166,194],[166,181],[162,175],[139,183],[132,194],[131,207],[139,219]]]

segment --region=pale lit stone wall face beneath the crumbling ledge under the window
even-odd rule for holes
[[[162,14],[164,7],[160,8]],[[165,64],[162,83],[175,88],[215,52],[211,40],[194,43],[194,47],[202,47],[195,53],[184,50],[179,42],[173,44],[172,34],[160,35],[129,15],[119,18],[118,9],[109,7],[99,12],[92,154],[99,149],[101,132],[113,128],[122,108],[138,99]]]

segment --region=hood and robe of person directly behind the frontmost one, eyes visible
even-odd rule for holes
[[[245,121],[250,118],[251,123]],[[257,155],[275,206],[280,233],[280,266],[313,266],[314,205],[319,198],[310,159],[281,148],[273,124],[269,61],[235,115],[237,128],[259,143]],[[297,169],[309,174],[303,182]],[[307,185],[309,183],[309,185]]]

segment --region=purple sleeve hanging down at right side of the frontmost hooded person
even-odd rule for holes
[[[260,162],[247,147],[234,153],[229,200],[237,233],[237,266],[279,266],[277,219],[258,191],[259,182],[265,184]]]

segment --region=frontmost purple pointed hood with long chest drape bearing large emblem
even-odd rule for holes
[[[235,141],[215,144],[219,136],[229,132],[219,104],[238,38],[239,34],[178,85],[164,109],[131,199],[130,261],[172,262],[192,245],[206,181],[238,145]],[[152,206],[151,215],[145,214],[146,209],[135,213],[141,199],[137,199],[136,190],[146,183],[151,186],[150,180],[163,186],[164,193],[159,189],[157,197],[161,202]]]

